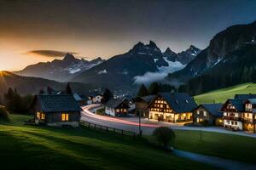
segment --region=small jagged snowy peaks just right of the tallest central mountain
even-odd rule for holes
[[[164,57],[166,57],[168,60],[174,62],[174,61],[179,61],[183,65],[189,64],[189,62],[197,56],[197,54],[200,54],[201,49],[196,48],[193,45],[190,45],[190,47],[182,51],[180,53],[175,53],[173,52],[170,48],[166,48],[166,51],[163,53]]]

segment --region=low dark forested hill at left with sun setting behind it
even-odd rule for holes
[[[74,92],[80,94],[87,94],[91,88],[89,85],[78,82],[70,82],[70,85]],[[64,90],[67,83],[38,77],[23,77],[9,71],[0,71],[0,95],[6,93],[8,88],[16,88],[20,94],[38,94],[39,90],[48,86],[57,90]]]

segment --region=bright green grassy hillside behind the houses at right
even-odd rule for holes
[[[256,94],[256,83],[248,82],[229,88],[221,88],[195,96],[197,104],[203,103],[224,103],[226,99],[234,98],[235,94]]]

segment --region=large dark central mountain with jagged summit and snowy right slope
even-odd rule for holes
[[[192,50],[183,52],[190,53],[183,55],[183,59],[190,57]],[[95,84],[97,88],[131,88],[134,83],[157,81],[185,66],[177,61],[182,57],[173,60],[171,54],[170,48],[162,53],[153,41],[148,44],[138,42],[127,53],[113,56],[101,65],[80,73],[72,81]]]

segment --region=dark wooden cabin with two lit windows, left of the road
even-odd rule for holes
[[[38,94],[31,109],[36,124],[79,127],[81,109],[72,94]]]

